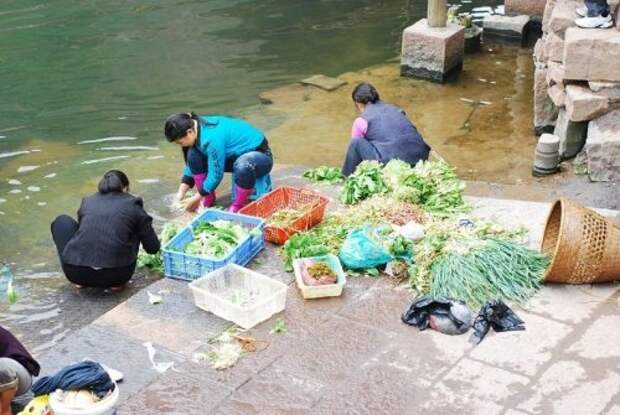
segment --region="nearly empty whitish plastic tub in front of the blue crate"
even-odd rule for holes
[[[237,264],[189,283],[197,307],[250,329],[284,310],[287,286]]]

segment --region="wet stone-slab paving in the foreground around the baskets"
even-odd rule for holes
[[[477,202],[478,212],[501,206],[500,221],[537,226],[546,215],[539,204]],[[232,368],[204,359],[231,324],[195,308],[187,283],[165,279],[146,288],[161,304],[139,292],[45,353],[43,374],[86,357],[122,370],[119,414],[608,414],[620,404],[619,284],[545,286],[514,307],[525,331],[473,346],[469,333],[402,323],[411,294],[387,277],[350,277],[342,296],[304,300],[278,249],[251,266],[289,284],[286,308],[243,333],[258,351]],[[285,333],[272,332],[278,320]],[[144,342],[155,364],[173,366],[157,371]]]

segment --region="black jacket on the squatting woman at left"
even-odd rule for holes
[[[159,239],[142,199],[129,193],[95,193],[82,199],[79,228],[62,252],[66,264],[118,268],[134,263],[140,243],[149,254]]]

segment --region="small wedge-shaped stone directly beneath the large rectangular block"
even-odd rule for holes
[[[585,86],[568,85],[565,105],[571,121],[589,121],[620,107],[620,88],[595,92]]]

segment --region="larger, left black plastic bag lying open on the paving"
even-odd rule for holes
[[[424,296],[414,301],[401,319],[420,330],[431,328],[454,335],[469,330],[473,315],[462,301]]]

